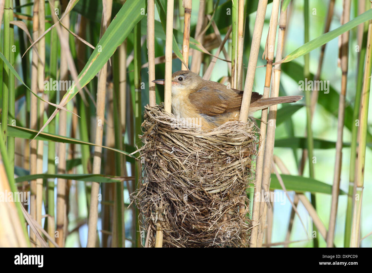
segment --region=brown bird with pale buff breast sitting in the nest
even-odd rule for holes
[[[164,85],[164,79],[153,82]],[[206,81],[191,71],[172,74],[172,113],[203,129],[214,129],[226,121],[237,120],[242,97],[243,91],[228,89],[219,82]],[[279,103],[294,103],[302,97],[262,98],[259,93],[252,92],[248,114]]]

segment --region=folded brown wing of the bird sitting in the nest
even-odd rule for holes
[[[229,89],[221,89],[202,88],[193,92],[189,95],[190,103],[200,114],[208,116],[239,111],[242,95]]]

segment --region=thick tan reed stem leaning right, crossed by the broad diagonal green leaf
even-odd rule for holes
[[[105,1],[106,9],[102,12],[101,37],[106,31],[111,21],[112,0]],[[106,13],[105,13],[106,12]],[[103,125],[105,120],[105,100],[106,100],[106,79],[107,79],[107,62],[103,65],[98,76],[97,86],[97,113],[96,113],[96,139],[95,143],[102,145]],[[101,172],[101,154],[102,147],[94,147],[93,170],[92,173]],[[90,194],[90,208],[88,221],[88,242],[87,247],[96,245],[97,221],[98,221],[98,194],[99,183],[92,182],[92,191]]]

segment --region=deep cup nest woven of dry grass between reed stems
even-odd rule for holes
[[[229,121],[212,131],[180,123],[163,105],[145,107],[140,149],[144,177],[134,193],[145,246],[246,247],[251,223],[254,123]]]

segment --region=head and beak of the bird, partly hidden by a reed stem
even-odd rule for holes
[[[172,74],[172,94],[179,92],[193,92],[203,81],[202,77],[191,71],[180,70]],[[156,79],[155,84],[164,85],[164,79]],[[196,89],[198,90],[198,89]]]

